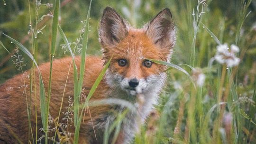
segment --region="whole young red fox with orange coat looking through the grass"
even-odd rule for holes
[[[123,99],[136,107],[137,114],[128,112],[125,116],[115,144],[130,143],[138,132],[139,126],[144,123],[153,106],[157,103],[158,94],[165,84],[166,66],[153,63],[147,58],[168,62],[173,52],[175,39],[174,21],[170,10],[167,8],[159,12],[141,29],[130,26],[127,21],[119,16],[115,9],[107,7],[104,10],[99,28],[102,57],[86,57],[82,93],[85,96],[88,95],[104,64],[112,57],[105,76],[90,100]],[[69,105],[69,97],[73,98],[73,71],[68,73],[71,61],[72,58],[66,57],[53,62],[49,109],[51,116],[54,118],[58,117],[63,92],[63,112],[66,111],[65,107]],[[78,70],[80,61],[79,57],[75,58]],[[43,63],[39,66],[39,69],[47,91],[50,63]],[[38,88],[37,70],[35,73],[34,80]],[[30,80],[26,75],[19,74],[0,85],[1,144],[28,143],[32,141],[31,136],[28,137],[29,131],[32,132],[34,137],[36,134],[37,137],[43,135],[39,130],[36,133],[35,128],[36,125],[37,129],[42,127],[39,90],[33,88],[33,94],[30,97],[29,83]],[[26,93],[27,97],[25,97]],[[26,99],[29,101],[30,98],[30,119],[33,130],[28,130]],[[79,143],[102,144],[106,126],[111,125],[116,119],[116,115],[113,113],[123,111],[123,109],[118,105],[91,107],[91,116],[86,114],[83,117]],[[63,113],[61,117],[64,117]],[[70,126],[69,131],[74,133],[74,127]]]

